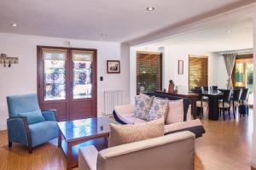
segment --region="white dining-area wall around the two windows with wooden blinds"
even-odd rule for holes
[[[175,85],[182,86],[184,89],[189,89],[189,54],[208,56],[208,84],[218,85],[218,62],[219,58],[216,53],[211,53],[209,51],[204,51],[201,48],[191,48],[185,46],[174,46],[166,45],[161,47],[147,46],[145,47],[132,47],[131,48],[131,102],[134,102],[134,96],[136,95],[136,51],[151,51],[159,52],[161,49],[164,52],[164,78],[163,78],[163,88],[168,88],[169,80],[172,79]],[[183,60],[183,75],[177,74],[177,62],[179,59]]]

